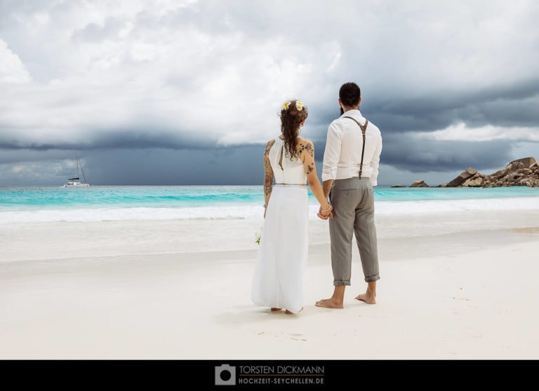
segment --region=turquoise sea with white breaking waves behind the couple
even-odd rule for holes
[[[378,215],[538,209],[538,187],[377,186]],[[318,204],[310,193],[310,218]],[[0,187],[0,225],[60,221],[251,219],[262,215],[262,185]]]

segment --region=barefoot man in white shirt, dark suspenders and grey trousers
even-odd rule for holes
[[[374,223],[374,192],[382,152],[382,135],[377,126],[359,112],[361,90],[345,83],[339,90],[341,116],[328,127],[322,181],[324,196],[333,205],[329,219],[333,296],[317,301],[317,307],[343,308],[345,288],[352,274],[352,238],[355,235],[366,293],[356,296],[376,303],[378,244]],[[319,218],[327,220],[328,217]]]

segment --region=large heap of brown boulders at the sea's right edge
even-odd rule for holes
[[[417,181],[416,181],[417,182]],[[484,175],[474,168],[467,168],[451,182],[444,183],[441,187],[509,187],[527,186],[539,187],[539,164],[533,157],[517,159],[505,168]]]

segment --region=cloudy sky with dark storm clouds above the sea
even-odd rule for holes
[[[379,185],[539,159],[539,3],[0,0],[0,185],[259,185],[284,100],[318,174],[338,89]]]

